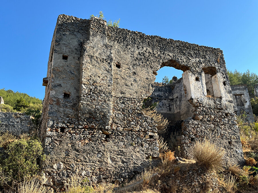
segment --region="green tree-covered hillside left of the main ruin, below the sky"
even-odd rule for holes
[[[0,96],[3,97],[5,104],[15,108],[17,106],[17,100],[20,101],[20,98],[23,98],[27,104],[41,104],[42,100],[31,97],[26,93],[14,92],[12,90],[0,89]]]

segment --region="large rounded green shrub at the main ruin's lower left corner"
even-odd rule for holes
[[[1,187],[15,186],[25,178],[39,173],[40,160],[45,159],[39,140],[22,137],[9,142],[4,148],[0,157]]]

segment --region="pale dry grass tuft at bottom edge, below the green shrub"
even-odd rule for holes
[[[40,184],[37,178],[28,179],[22,182],[17,190],[18,193],[48,193],[49,191],[45,186]]]

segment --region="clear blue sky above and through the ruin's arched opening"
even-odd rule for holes
[[[60,14],[103,11],[120,27],[223,50],[229,70],[258,74],[258,1],[2,1],[0,88],[43,99],[50,44]],[[156,81],[182,71],[162,68]]]

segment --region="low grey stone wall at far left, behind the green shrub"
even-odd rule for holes
[[[22,113],[0,112],[0,132],[10,132],[19,136],[23,133],[29,133],[31,129],[30,116]]]

